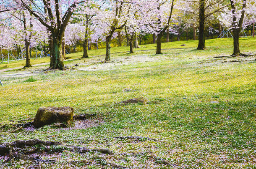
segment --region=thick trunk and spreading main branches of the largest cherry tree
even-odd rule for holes
[[[50,34],[50,69],[64,69],[62,41],[65,28],[79,3],[83,0],[13,0],[44,25]]]

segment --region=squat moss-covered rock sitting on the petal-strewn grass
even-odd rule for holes
[[[39,108],[34,118],[36,128],[60,122],[71,124],[74,109],[72,107],[44,107]]]

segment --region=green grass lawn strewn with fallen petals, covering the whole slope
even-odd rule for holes
[[[43,159],[57,160],[41,164],[49,169],[110,168],[110,162],[128,168],[256,168],[255,56],[214,58],[232,54],[232,39],[227,38],[206,40],[206,50],[195,50],[196,45],[197,41],[163,43],[162,48],[192,48],[163,50],[162,55],[154,55],[154,50],[116,53],[114,63],[98,61],[104,56],[96,55],[104,54],[104,49],[91,50],[95,57],[67,63],[70,67],[79,63],[75,69],[45,72],[45,66],[39,66],[3,73],[2,125],[28,121],[45,106],[72,106],[75,114],[97,113],[91,121],[98,125],[71,130],[44,126],[16,133],[10,133],[15,128],[9,125],[0,129],[0,143],[42,139],[114,152],[44,153]],[[256,38],[240,40],[244,53],[256,53],[255,45]],[[136,50],[154,48],[151,44]],[[113,53],[125,51],[128,48],[112,48]],[[79,58],[81,53],[68,57]],[[14,75],[22,73],[29,75]],[[132,91],[125,92],[126,88]],[[115,104],[136,97],[149,102]],[[157,140],[106,139],[114,136]],[[4,159],[0,160],[0,168],[34,165],[24,160],[1,164]],[[74,160],[84,162],[68,162]]]

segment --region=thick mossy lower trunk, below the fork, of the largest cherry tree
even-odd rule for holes
[[[65,68],[63,63],[61,43],[62,43],[62,40],[58,40],[54,36],[52,37],[53,55],[51,56],[50,69],[63,70]]]

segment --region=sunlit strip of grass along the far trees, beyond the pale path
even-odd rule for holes
[[[222,38],[222,39],[209,39],[206,40],[206,48],[209,50],[215,50],[215,49],[221,49],[224,53],[224,55],[231,55],[232,54],[232,38]],[[185,46],[181,46],[185,44]],[[256,39],[255,38],[240,38],[240,48],[241,51],[250,51],[250,49],[253,49],[255,51],[255,44]],[[170,49],[170,48],[196,48],[198,45],[198,40],[188,40],[188,41],[175,41],[175,42],[169,42],[169,43],[162,43],[162,49]],[[155,50],[156,44],[149,44],[149,45],[141,45],[141,48],[134,49],[134,51],[138,50]],[[129,51],[129,47],[115,47],[111,48],[111,53],[127,53]],[[97,56],[97,55],[104,55],[105,49],[98,49],[98,50],[89,50],[88,51],[89,56]],[[66,57],[68,59],[78,59],[81,58],[83,55],[83,52],[78,53],[71,53],[67,54]],[[34,59],[31,58],[31,64],[40,64],[40,63],[49,63],[50,58],[39,58]],[[8,63],[1,63],[0,64],[0,70],[5,68],[15,68],[15,67],[21,67],[24,66],[26,63],[25,60],[23,61],[12,61],[9,64]],[[65,62],[66,63],[66,62]]]

